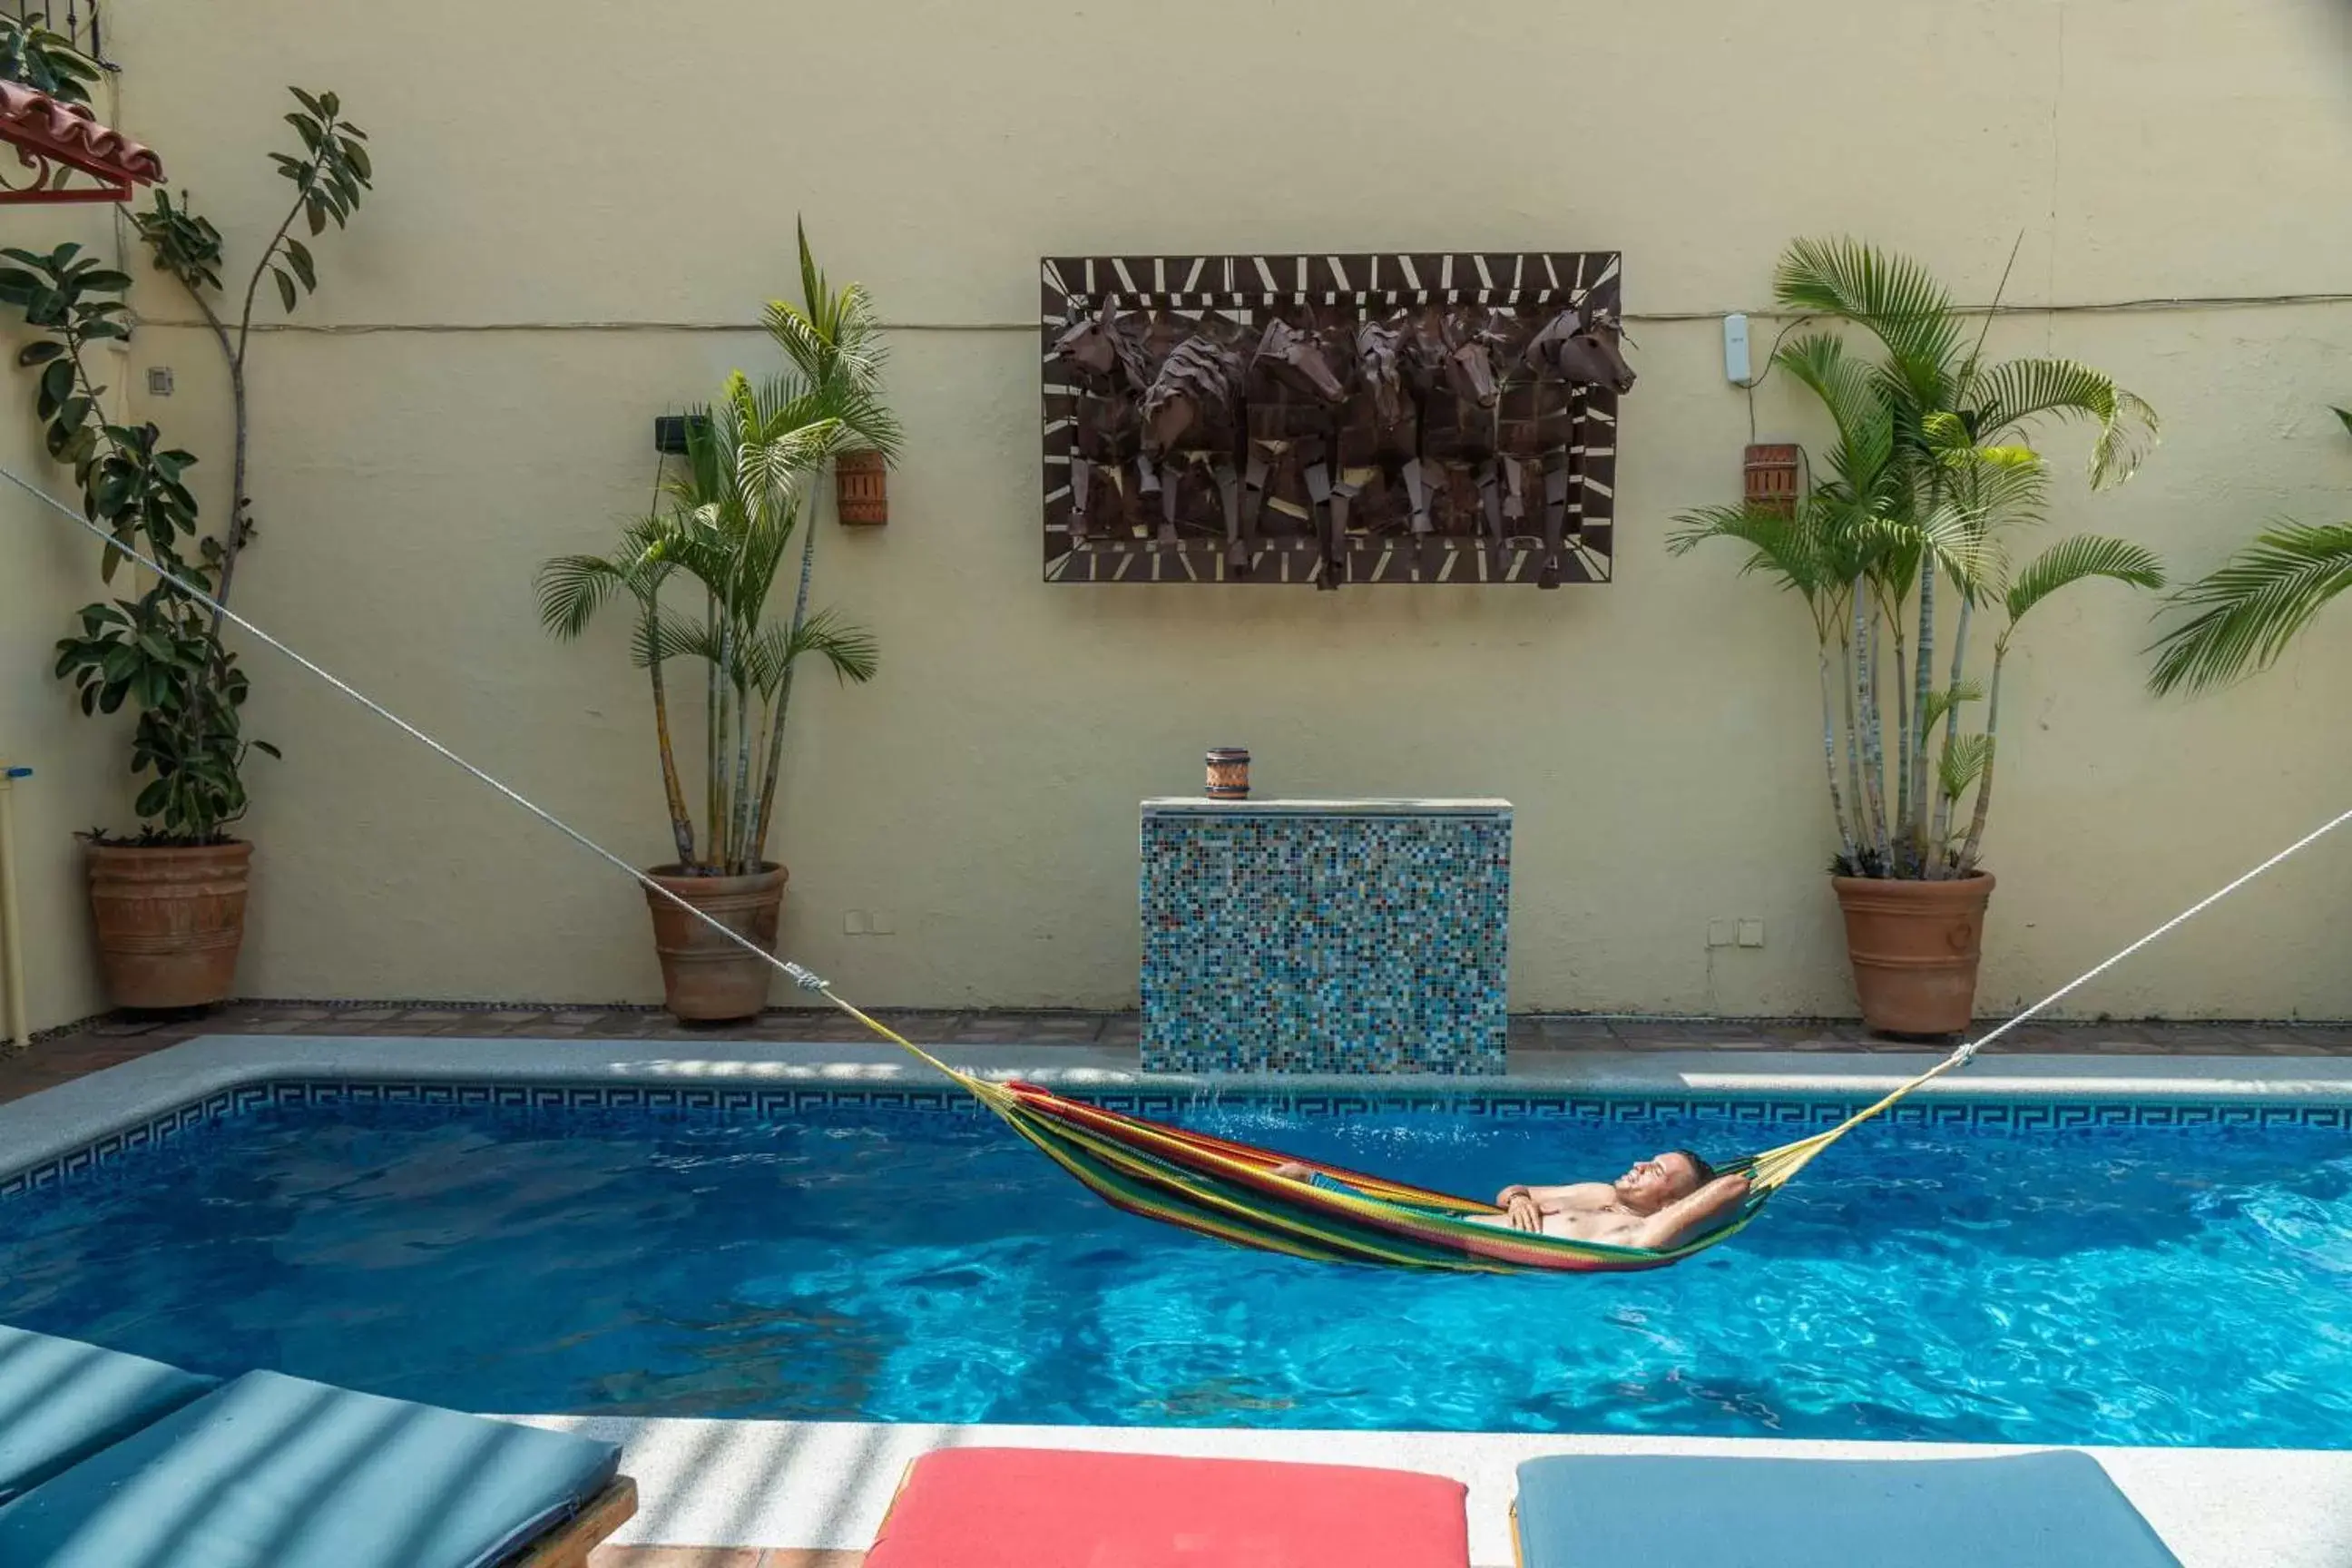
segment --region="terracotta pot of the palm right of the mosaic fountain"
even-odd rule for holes
[[[1830,877],[1863,1023],[1886,1034],[1962,1034],[1976,1013],[1976,961],[1992,875],[1950,882]]]

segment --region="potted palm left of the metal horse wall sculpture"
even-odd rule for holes
[[[717,402],[684,421],[687,454],[677,473],[663,475],[663,505],[628,524],[612,555],[560,555],[539,571],[541,623],[555,637],[579,637],[616,597],[633,607],[633,656],[654,693],[675,851],[647,875],[762,952],[774,950],[783,914],[786,867],[767,858],[767,844],[793,677],[807,658],[858,684],[877,668],[863,628],[809,607],[818,489],[835,456],[889,458],[898,449],[898,423],[880,402],[873,303],[856,284],[828,289],[807,235],[800,259],[804,301],[767,310],[793,369],[762,386],[741,371],[729,376]],[[795,545],[790,611],[771,614]],[[663,599],[670,588],[684,590],[684,609]],[[703,665],[699,820],[670,724],[666,668],[677,658]],[[673,898],[647,891],[647,905],[663,994],[677,1018],[750,1018],[767,1004],[767,964]]]

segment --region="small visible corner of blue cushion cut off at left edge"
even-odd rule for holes
[[[219,1382],[146,1356],[0,1326],[0,1502]]]

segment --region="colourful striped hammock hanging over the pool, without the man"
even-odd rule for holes
[[[913,1051],[955,1079],[1112,1208],[1235,1246],[1315,1262],[1369,1262],[1456,1274],[1621,1274],[1682,1262],[1745,1229],[1771,1201],[1771,1194],[1832,1143],[1973,1056],[1971,1048],[1962,1046],[1877,1105],[1858,1110],[1823,1133],[1724,1164],[1726,1175],[1738,1173],[1750,1182],[1748,1201],[1740,1204],[1738,1213],[1682,1246],[1653,1251],[1508,1229],[1482,1222],[1501,1215],[1494,1204],[1406,1187],[1338,1166],[1294,1161],[1289,1154],[1127,1117],[1035,1084],[976,1079],[833,997],[830,990],[823,994],[882,1039]],[[1315,1173],[1315,1180],[1275,1175],[1275,1166],[1282,1164],[1303,1164]]]

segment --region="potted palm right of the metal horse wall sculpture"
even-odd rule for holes
[[[2086,578],[2164,583],[2143,545],[2082,534],[2032,559],[2044,421],[2091,425],[2091,487],[2126,480],[2154,414],[2072,360],[1987,362],[1985,324],[1915,261],[1853,240],[1799,240],[1773,273],[1788,310],[1835,322],[1773,353],[1835,430],[1797,501],[1677,517],[1670,550],[1745,550],[1813,625],[1820,757],[1837,830],[1832,886],[1863,1020],[1889,1034],[1969,1027],[1992,872],[1985,823],[1999,759],[2002,675],[2018,625]],[[1875,355],[1858,353],[1858,329]],[[1976,639],[1985,628],[1990,668]],[[1969,710],[1983,703],[1983,726]]]

